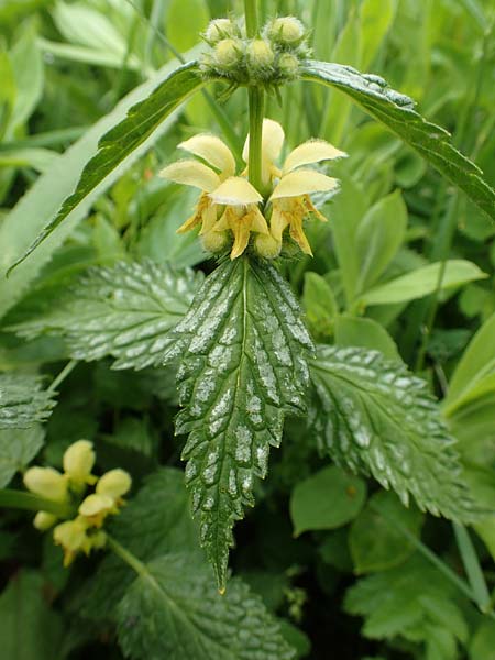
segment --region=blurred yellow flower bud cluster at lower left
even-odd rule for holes
[[[91,474],[95,461],[92,442],[78,440],[64,453],[64,473],[53,468],[30,468],[24,474],[24,485],[32,493],[52,502],[78,505],[77,516],[58,522],[53,530],[54,542],[64,550],[65,566],[78,552],[89,554],[105,547],[103,521],[107,516],[119,513],[122,497],[131,488],[131,477],[123,470],[110,470],[99,479]],[[95,492],[84,497],[88,486],[96,486]],[[38,512],[34,527],[46,531],[57,521],[54,514]]]

